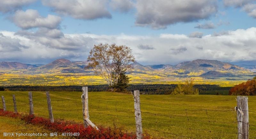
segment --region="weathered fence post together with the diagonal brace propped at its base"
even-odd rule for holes
[[[89,108],[88,108],[88,87],[82,87],[83,94],[81,96],[82,98],[82,103],[83,103],[83,117],[84,117],[84,127],[92,126],[96,128],[97,130],[98,127],[96,127],[91,120],[89,120]]]

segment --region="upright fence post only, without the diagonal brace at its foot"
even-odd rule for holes
[[[84,117],[84,127],[88,127],[88,123],[86,122],[86,118],[89,119],[89,111],[88,111],[88,87],[82,87],[82,102],[83,102],[83,117]]]

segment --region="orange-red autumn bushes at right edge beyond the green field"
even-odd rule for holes
[[[240,83],[229,90],[229,95],[256,95],[256,76],[252,80]]]

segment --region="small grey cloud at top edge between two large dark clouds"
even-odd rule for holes
[[[134,7],[132,0],[111,0],[109,5],[119,12],[129,12]]]

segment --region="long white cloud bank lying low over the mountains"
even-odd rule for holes
[[[57,58],[82,61],[87,59],[93,45],[99,43],[116,43],[131,47],[136,60],[145,65],[159,63],[175,65],[180,61],[194,59],[216,59],[225,62],[256,59],[255,27],[223,32],[219,35],[204,35],[200,39],[182,34],[159,36],[63,34],[56,39],[59,35],[49,35],[51,33],[38,35],[40,33],[37,32],[30,34],[0,32],[2,33],[0,46],[2,51],[5,51],[1,53],[0,61],[21,59],[26,63],[30,60],[34,60],[33,63],[42,63]],[[138,47],[140,44],[157,46],[157,49],[140,49]],[[8,48],[2,48],[3,46]],[[9,50],[11,46],[16,51]]]

